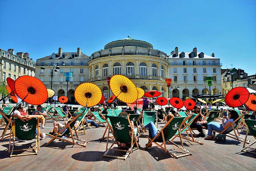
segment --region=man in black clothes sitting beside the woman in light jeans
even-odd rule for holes
[[[207,129],[207,121],[202,121],[202,112],[201,112],[201,106],[196,105],[194,106],[194,113],[198,114],[198,117],[196,119],[194,119],[194,122],[191,123],[190,128],[196,128],[199,132],[197,137],[205,137],[203,134],[203,129]]]

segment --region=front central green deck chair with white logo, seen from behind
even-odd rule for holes
[[[103,157],[113,157],[117,159],[124,159],[126,160],[127,157],[129,156],[130,153],[132,153],[132,148],[134,144],[136,144],[137,149],[139,149],[139,146],[137,144],[137,141],[135,139],[135,135],[133,135],[133,130],[132,130],[132,137],[129,134],[129,128],[128,125],[130,125],[129,117],[114,117],[110,116],[110,122],[111,125],[113,125],[113,132],[114,132],[114,142],[111,144],[110,148],[108,148],[108,139],[107,139],[107,144],[106,144],[106,152],[103,155]],[[110,131],[110,130],[109,130]],[[110,132],[108,132],[109,135]],[[120,149],[113,149],[113,145],[119,143],[126,143],[130,144],[130,147],[128,150],[120,150]],[[119,146],[119,145],[118,145]],[[113,155],[108,155],[107,153],[110,151],[124,151],[126,154],[124,156],[113,156]]]

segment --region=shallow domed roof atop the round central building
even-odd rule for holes
[[[153,49],[152,44],[145,41],[130,38],[130,36],[121,40],[110,42],[105,45],[104,49],[116,48],[116,47],[143,47],[143,48]]]

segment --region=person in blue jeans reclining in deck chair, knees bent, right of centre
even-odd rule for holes
[[[166,116],[167,122],[168,122],[172,117],[174,117],[173,114],[167,114],[167,116]],[[149,123],[146,124],[146,125],[142,124],[142,128],[144,128],[144,129],[148,128],[148,129],[149,129],[149,138],[150,138],[150,139],[153,139],[153,138],[158,134],[158,132],[159,132],[153,122],[149,122]],[[165,133],[165,130],[167,130],[167,129],[164,129],[164,133]],[[158,138],[155,139],[155,141],[158,141],[158,139],[161,139],[161,137],[162,137],[162,134],[160,134],[160,135],[158,136]],[[150,143],[150,140],[148,141],[148,143]],[[146,143],[145,146],[147,146],[148,143]],[[150,145],[150,147],[151,147],[151,146],[152,146],[152,144]]]

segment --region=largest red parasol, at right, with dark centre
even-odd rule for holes
[[[225,96],[225,103],[229,107],[239,107],[249,98],[249,91],[244,87],[235,87],[231,89]]]

